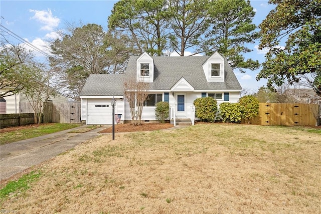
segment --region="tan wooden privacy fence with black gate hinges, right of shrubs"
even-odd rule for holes
[[[260,103],[257,125],[315,126],[320,117],[318,104]]]

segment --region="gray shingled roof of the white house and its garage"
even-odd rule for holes
[[[136,78],[136,59],[130,57],[125,75],[92,74],[86,81],[80,96],[122,95],[123,77]],[[150,90],[169,90],[184,77],[196,90],[241,90],[234,72],[225,60],[225,82],[207,82],[203,63],[209,57],[152,57],[154,82]]]

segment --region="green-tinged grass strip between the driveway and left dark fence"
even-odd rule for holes
[[[40,125],[29,125],[12,128],[0,129],[0,145],[12,143],[19,140],[25,140],[33,137],[39,137],[45,134],[51,134],[66,129],[71,129],[80,126],[75,123],[50,123]]]

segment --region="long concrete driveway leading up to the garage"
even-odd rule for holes
[[[99,136],[98,132],[109,126],[102,126],[85,133],[69,133],[84,127],[86,126],[1,145],[0,180],[10,178],[86,140]]]

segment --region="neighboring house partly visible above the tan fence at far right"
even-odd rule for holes
[[[317,96],[313,89],[309,88],[291,88],[284,92],[287,96],[293,98],[296,103],[316,103],[321,104],[321,97]]]

